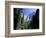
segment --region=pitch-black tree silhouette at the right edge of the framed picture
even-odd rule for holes
[[[36,10],[36,14],[33,16],[33,27],[32,29],[39,29],[39,9]]]

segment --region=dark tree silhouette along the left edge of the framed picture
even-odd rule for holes
[[[20,18],[20,14],[21,14],[21,10],[22,8],[14,8],[14,30],[16,30],[16,28],[18,27],[18,22],[19,22],[19,18]]]

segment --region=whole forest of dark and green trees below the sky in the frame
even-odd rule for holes
[[[14,30],[23,29],[39,29],[39,9],[36,10],[35,15],[29,14],[24,20],[23,8],[14,8]],[[29,18],[29,20],[28,20]]]

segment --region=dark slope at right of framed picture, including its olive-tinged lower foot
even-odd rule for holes
[[[39,9],[37,9],[35,15],[32,16],[28,29],[39,29]]]

